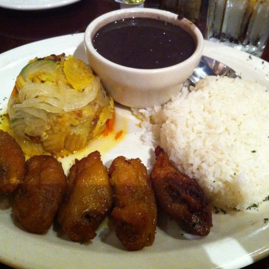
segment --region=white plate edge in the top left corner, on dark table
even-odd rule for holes
[[[12,10],[47,10],[64,7],[80,0],[0,0],[0,7]]]

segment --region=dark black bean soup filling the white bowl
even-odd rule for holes
[[[95,50],[116,64],[156,69],[189,58],[195,43],[182,28],[156,19],[128,18],[102,27],[94,36]]]

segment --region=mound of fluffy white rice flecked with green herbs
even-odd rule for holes
[[[267,89],[269,90],[269,89]],[[246,209],[269,195],[269,93],[240,78],[207,77],[163,107],[140,109],[144,140],[196,178],[212,204]]]

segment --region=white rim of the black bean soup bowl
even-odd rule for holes
[[[139,68],[132,68],[132,67],[127,67],[127,66],[122,66],[119,64],[116,64],[105,57],[103,57],[101,54],[99,54],[93,44],[92,44],[92,38],[95,35],[95,33],[100,29],[102,26],[111,23],[115,20],[119,20],[121,18],[132,18],[138,15],[137,17],[141,17],[141,15],[145,14],[154,14],[156,18],[154,19],[159,19],[159,20],[167,20],[168,22],[177,22],[177,24],[182,24],[186,27],[184,29],[192,36],[194,39],[194,42],[196,44],[196,48],[193,52],[193,54],[183,62],[180,62],[176,65],[172,65],[169,67],[163,67],[163,68],[157,68],[157,69],[139,69]],[[122,16],[124,15],[124,16]],[[146,16],[145,16],[146,17]],[[151,17],[152,18],[152,17]],[[179,21],[178,21],[179,20]],[[101,27],[99,27],[101,25]],[[192,31],[191,31],[192,29]],[[195,40],[196,39],[196,40]],[[177,69],[181,66],[188,65],[188,63],[194,61],[197,59],[197,57],[202,56],[202,51],[204,47],[204,39],[201,31],[198,29],[198,27],[193,24],[191,21],[189,21],[186,18],[178,19],[178,15],[174,14],[169,11],[165,10],[159,10],[159,9],[152,9],[152,8],[129,8],[129,9],[121,9],[121,10],[115,10],[111,11],[108,13],[105,13],[96,19],[94,19],[86,28],[85,33],[84,33],[84,46],[87,51],[87,49],[96,57],[98,58],[99,61],[102,61],[108,65],[111,65],[113,68],[118,69],[118,70],[124,70],[125,72],[134,72],[134,73],[160,73],[160,72],[165,72],[165,71],[171,71],[172,69]]]

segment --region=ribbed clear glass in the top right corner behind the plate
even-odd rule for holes
[[[209,0],[205,39],[261,57],[269,38],[269,0]]]

